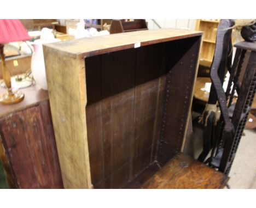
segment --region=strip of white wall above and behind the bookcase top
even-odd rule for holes
[[[185,28],[195,29],[195,19],[154,19],[161,28]],[[159,29],[152,19],[146,19],[148,22],[148,29]]]

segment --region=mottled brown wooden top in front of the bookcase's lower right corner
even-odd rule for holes
[[[141,188],[223,188],[228,179],[223,173],[178,154]]]

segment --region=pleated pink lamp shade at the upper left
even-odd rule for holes
[[[0,19],[0,44],[30,39],[31,37],[27,34],[27,30],[20,20]]]

